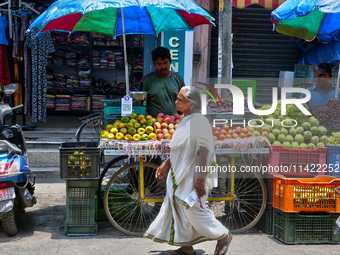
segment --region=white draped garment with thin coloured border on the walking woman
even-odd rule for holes
[[[170,142],[171,171],[167,194],[156,219],[144,234],[156,242],[190,246],[203,241],[219,240],[226,229],[205,206],[208,195],[189,207],[184,199],[194,190],[197,179],[197,152],[208,149],[207,166],[216,163],[213,136],[208,120],[199,113],[183,118]],[[206,193],[217,186],[217,173],[206,173]]]

